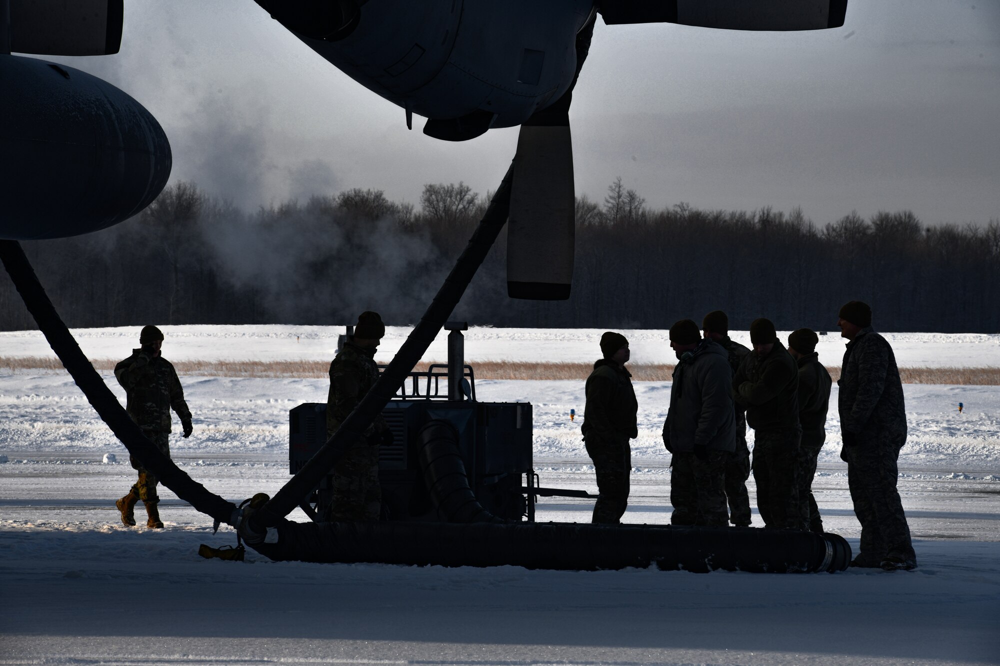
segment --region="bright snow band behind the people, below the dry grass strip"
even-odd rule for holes
[[[124,403],[125,392],[114,375],[101,375]],[[182,383],[194,414],[195,435],[175,436],[171,450],[190,456],[248,452],[283,456],[288,410],[303,402],[324,402],[329,388],[323,379],[185,377]],[[670,382],[636,382],[635,387],[640,432],[633,455],[666,464],[669,458],[660,431],[670,402]],[[1000,387],[907,384],[904,391],[910,435],[902,466],[1000,475]],[[533,404],[536,459],[587,460],[580,441],[581,421],[569,417],[571,409],[583,413],[582,381],[482,380],[476,382],[476,393],[483,401]],[[834,385],[827,445],[820,457],[824,463],[840,460],[836,399]],[[962,413],[956,408],[959,402],[965,405]],[[752,441],[752,430],[748,437]],[[0,374],[0,454],[16,460],[33,453],[106,451],[121,453],[124,448],[68,375]]]

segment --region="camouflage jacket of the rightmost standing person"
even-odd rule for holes
[[[906,436],[906,406],[896,356],[871,326],[847,344],[837,384],[842,430]]]

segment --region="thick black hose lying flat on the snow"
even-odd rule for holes
[[[851,559],[851,547],[836,534],[756,528],[282,520],[277,536],[277,543],[249,545],[272,560],[590,571],[655,564],[694,572],[834,572]]]

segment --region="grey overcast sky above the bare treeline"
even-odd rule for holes
[[[246,208],[350,187],[485,192],[517,141],[437,141],[419,118],[407,131],[402,109],[250,0],[126,0],[121,53],[50,59],[143,103],[172,179]],[[656,207],[985,223],[1000,218],[1000,0],[850,0],[843,28],[811,33],[598,19],[570,116],[592,199],[620,175]]]

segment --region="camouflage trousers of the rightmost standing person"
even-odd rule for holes
[[[888,555],[916,562],[910,527],[896,490],[897,460],[906,436],[859,437],[844,446],[840,457],[847,463],[847,486],[854,513],[861,523],[861,549],[857,558],[877,566]]]

